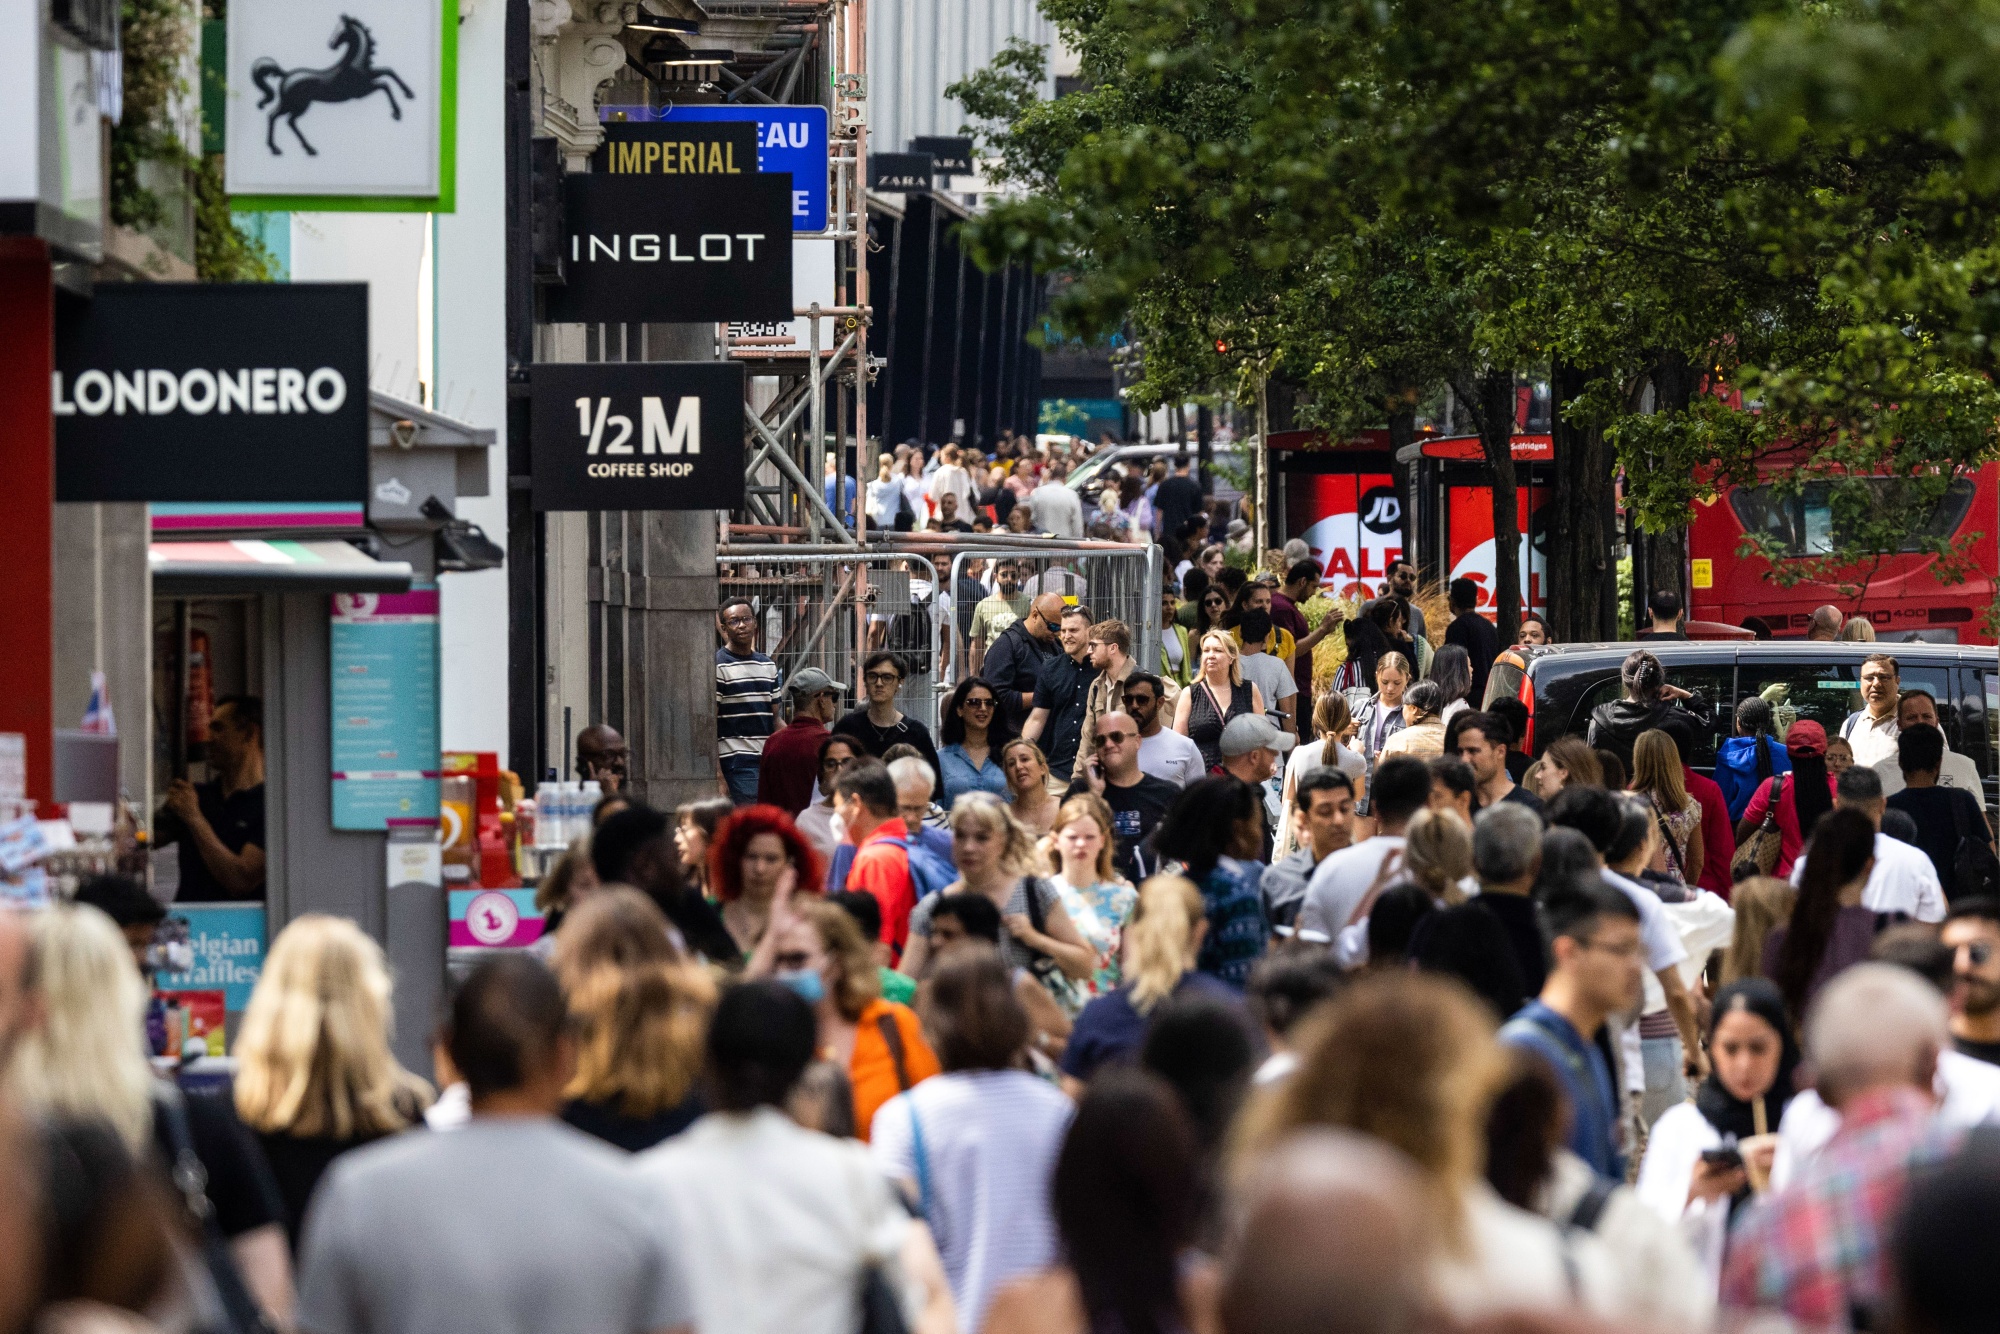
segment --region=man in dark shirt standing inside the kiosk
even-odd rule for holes
[[[264,898],[264,702],[232,694],[208,720],[210,782],[176,778],[154,844],[180,844],[182,902]]]

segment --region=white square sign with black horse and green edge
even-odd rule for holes
[[[232,208],[452,210],[456,4],[232,0],[224,68]]]

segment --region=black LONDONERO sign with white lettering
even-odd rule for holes
[[[100,284],[56,320],[56,500],[368,498],[368,284]]]

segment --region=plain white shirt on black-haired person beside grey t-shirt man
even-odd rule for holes
[[[632,1170],[684,1240],[702,1334],[852,1334],[862,1268],[894,1274],[910,1226],[866,1146],[768,1106],[704,1116]]]

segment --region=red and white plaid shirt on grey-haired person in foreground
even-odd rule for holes
[[[1840,1328],[1854,1308],[1876,1308],[1888,1292],[1888,1232],[1910,1170],[1952,1140],[1932,1132],[1932,1102],[1914,1088],[1858,1098],[1792,1186],[1766,1196],[1732,1232],[1722,1304]]]

